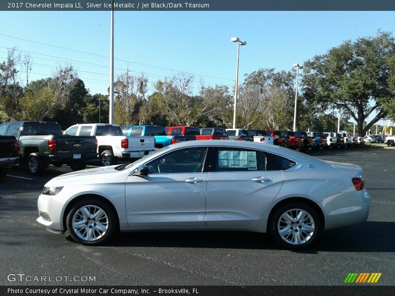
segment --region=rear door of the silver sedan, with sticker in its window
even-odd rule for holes
[[[273,161],[262,150],[210,148],[206,225],[255,224],[283,183],[281,170]]]

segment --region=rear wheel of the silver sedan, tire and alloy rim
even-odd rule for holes
[[[282,247],[302,250],[313,245],[323,231],[316,210],[300,202],[288,203],[273,213],[270,234]]]

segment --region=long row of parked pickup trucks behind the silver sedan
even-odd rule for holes
[[[120,127],[106,123],[76,124],[62,132],[55,122],[5,122],[0,124],[0,167],[19,163],[36,175],[50,164],[56,167],[67,164],[77,171],[84,169],[88,160],[99,158],[101,165],[109,166],[118,159],[140,158],[158,148],[193,140],[253,141],[305,151],[355,147],[365,142],[375,143],[377,139],[330,132],[157,125]],[[1,176],[5,176],[4,169],[0,169]]]

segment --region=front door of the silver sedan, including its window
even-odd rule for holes
[[[206,147],[178,149],[146,163],[148,176],[129,176],[129,227],[205,226],[206,154]]]

